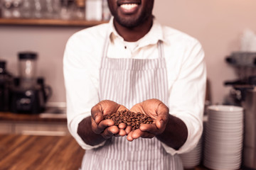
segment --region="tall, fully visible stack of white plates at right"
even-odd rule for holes
[[[239,169],[242,158],[243,109],[209,106],[203,165],[209,169]]]

